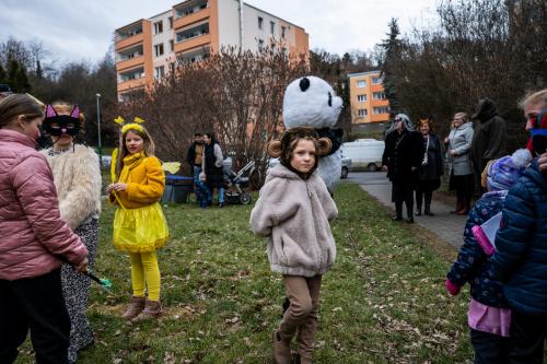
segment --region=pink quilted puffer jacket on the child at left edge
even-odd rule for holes
[[[23,133],[0,129],[0,280],[78,266],[88,249],[60,219],[54,177],[46,158]]]

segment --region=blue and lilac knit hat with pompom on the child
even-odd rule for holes
[[[524,174],[532,154],[520,149],[513,155],[505,155],[487,166],[487,187],[490,191],[508,190]]]

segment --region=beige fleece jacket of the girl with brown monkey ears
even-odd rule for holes
[[[268,236],[268,259],[274,272],[314,277],[336,259],[329,223],[338,209],[315,172],[307,180],[279,164],[268,171],[251,212],[251,228]]]

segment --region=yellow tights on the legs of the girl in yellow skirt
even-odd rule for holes
[[[160,267],[155,251],[129,253],[131,257],[131,283],[133,296],[143,297],[148,287],[148,298],[160,301]]]

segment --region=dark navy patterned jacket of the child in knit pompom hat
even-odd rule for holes
[[[464,245],[446,275],[452,283],[459,286],[469,282],[473,298],[493,307],[507,307],[508,303],[503,296],[502,283],[492,280],[487,270],[488,257],[473,235],[472,228],[498,214],[503,209],[507,193],[507,190],[487,192],[473,206],[465,223]]]

